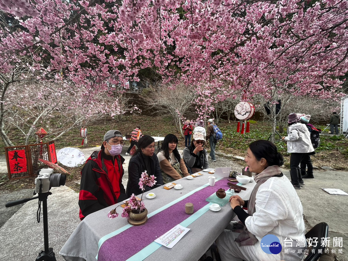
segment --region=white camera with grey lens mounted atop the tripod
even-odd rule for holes
[[[65,185],[66,175],[53,173],[53,168],[42,168],[35,179],[35,193],[46,193],[52,187]]]

